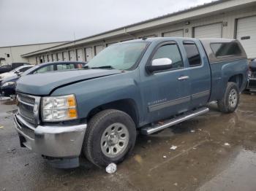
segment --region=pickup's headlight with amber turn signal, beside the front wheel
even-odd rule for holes
[[[78,118],[75,95],[42,98],[42,121],[56,122]]]

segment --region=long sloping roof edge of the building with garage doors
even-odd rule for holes
[[[79,44],[96,42],[103,39],[110,39],[115,36],[121,35],[130,35],[130,33],[134,33],[136,31],[142,31],[148,28],[154,28],[156,26],[164,26],[170,23],[178,23],[185,20],[191,20],[192,18],[200,17],[202,15],[211,15],[217,12],[223,12],[224,10],[232,10],[236,7],[240,7],[242,5],[255,3],[255,0],[219,0],[219,1],[211,1],[207,4],[198,5],[196,7],[190,7],[188,9],[184,9],[178,12],[172,12],[167,15],[162,15],[160,17],[154,17],[149,20],[143,20],[139,23],[134,23],[127,26],[122,26],[119,28],[115,28],[110,31],[105,31],[99,34],[87,36],[82,39],[76,39],[72,42],[67,42],[64,44],[59,44],[53,47],[48,47],[42,50],[37,50],[34,52],[29,52],[21,55],[22,57],[29,57],[32,55],[39,55],[46,52],[56,51],[56,50],[64,50],[68,47],[75,47]]]

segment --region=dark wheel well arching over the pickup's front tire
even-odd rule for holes
[[[91,111],[87,116],[87,120],[90,120],[91,117],[93,117],[95,114],[105,109],[117,109],[122,112],[125,112],[129,114],[130,117],[132,117],[132,120],[135,122],[135,125],[136,126],[138,125],[138,122],[139,122],[138,107],[135,104],[135,101],[133,101],[132,99],[122,99],[122,100],[110,102],[108,104],[97,106],[96,108],[91,109]]]

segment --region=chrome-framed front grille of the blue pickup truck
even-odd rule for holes
[[[18,98],[18,113],[27,122],[32,125],[36,125],[38,122],[38,109],[39,109],[39,97],[26,95],[23,93],[17,94]],[[34,114],[34,109],[36,106],[36,114]]]

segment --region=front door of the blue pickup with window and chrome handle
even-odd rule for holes
[[[147,122],[186,112],[190,104],[189,74],[178,44],[173,41],[159,44],[147,64],[157,58],[169,58],[172,68],[147,73],[143,77],[142,91]]]

